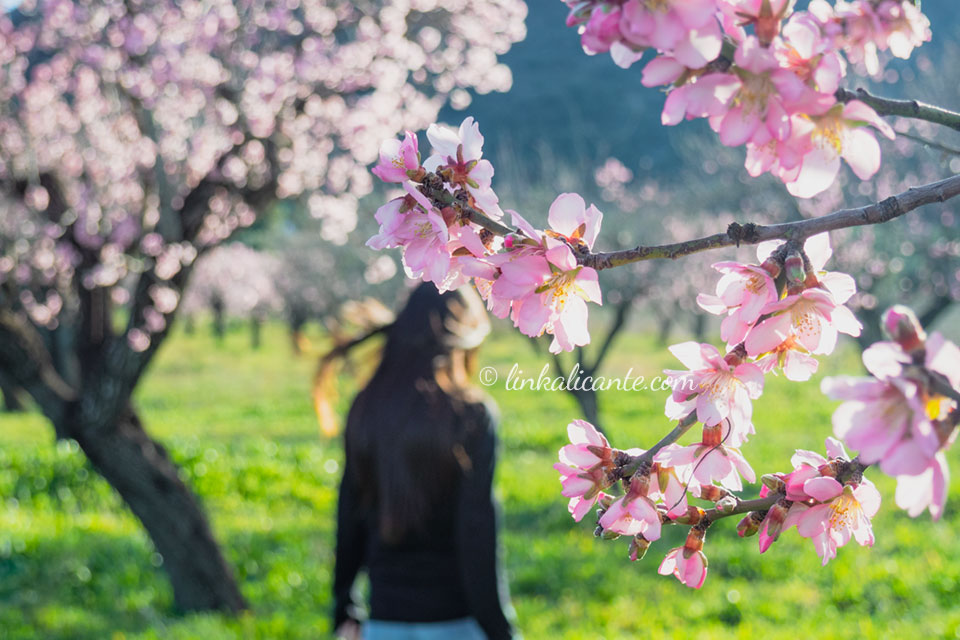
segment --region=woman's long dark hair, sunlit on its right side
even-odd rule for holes
[[[428,521],[461,469],[463,442],[485,415],[469,385],[476,347],[490,331],[472,289],[424,283],[387,329],[383,356],[347,416],[347,465],[382,539],[398,542]]]

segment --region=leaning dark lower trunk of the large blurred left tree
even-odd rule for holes
[[[94,468],[146,528],[173,585],[181,611],[246,608],[197,499],[164,448],[127,408],[114,421],[68,417],[60,430],[74,438]],[[95,412],[94,412],[95,413]]]

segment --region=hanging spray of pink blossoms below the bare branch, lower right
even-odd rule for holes
[[[649,452],[612,449],[588,423],[570,425],[570,444],[555,469],[576,520],[596,505],[597,535],[631,536],[634,560],[660,538],[664,525],[689,526],[684,545],[666,554],[659,572],[700,588],[708,569],[707,528],[733,514],[746,514],[738,533],[758,534],[761,553],[793,526],[811,540],[824,565],[850,540],[872,546],[871,520],[881,498],[864,470],[874,464],[897,477],[896,502],[911,516],[925,508],[934,517],[942,513],[943,451],[956,438],[960,415],[960,349],[939,334],[927,338],[902,307],[884,319],[894,341],[864,353],[874,378],[824,380],[828,395],[847,401],[834,415],[839,439],[827,439],[827,455],[797,450],[791,472],[763,476],[757,501],[736,495],[745,481],[756,481],[741,447],[755,432],[752,401],[763,391],[765,374],[809,380],[818,367],[814,356],[830,354],[839,333],[860,333],[844,306],[855,283],[847,274],[824,270],[831,255],[827,235],[820,234],[803,245],[763,243],[758,264],[714,265],[723,274],[716,294],[700,294],[697,301],[724,316],[726,352],[696,342],[670,347],[687,367],[665,372],[673,388],[665,414],[678,423]],[[699,441],[678,444],[697,423]],[[851,458],[840,439],[859,455]],[[610,488],[618,482],[622,495],[614,497],[620,492]],[[694,500],[713,506],[704,510]]]

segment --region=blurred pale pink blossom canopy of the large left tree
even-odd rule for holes
[[[509,0],[24,2],[0,17],[0,278],[50,325],[69,281],[150,271],[164,290],[274,196],[331,194],[318,216],[349,225],[383,137],[509,87],[496,56],[523,17]]]

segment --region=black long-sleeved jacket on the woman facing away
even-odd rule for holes
[[[472,616],[489,638],[512,637],[491,493],[495,420],[489,410],[484,413],[484,427],[464,442],[469,463],[456,480],[455,498],[437,504],[422,531],[399,544],[381,540],[376,514],[360,506],[351,469],[344,469],[337,505],[334,628],[359,617],[352,591],[357,573],[365,568],[374,620],[439,622]]]

